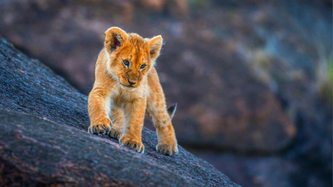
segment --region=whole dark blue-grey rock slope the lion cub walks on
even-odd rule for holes
[[[238,186],[182,147],[145,153],[89,135],[87,97],[0,38],[0,186]],[[22,113],[23,112],[23,113]]]

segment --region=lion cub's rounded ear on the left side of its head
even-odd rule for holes
[[[128,38],[128,35],[119,27],[110,27],[105,31],[104,46],[108,52],[113,52]]]

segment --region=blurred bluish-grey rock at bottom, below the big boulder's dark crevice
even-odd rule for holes
[[[227,152],[200,151],[189,149],[195,155],[214,164],[242,186],[280,186],[293,187],[304,185],[302,168],[295,161],[280,155],[241,155]],[[309,180],[321,185],[320,177],[308,175]],[[304,185],[306,186],[306,185]]]

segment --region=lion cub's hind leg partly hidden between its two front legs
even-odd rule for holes
[[[109,132],[109,136],[119,140],[123,135],[125,126],[123,109],[117,106],[112,106],[110,116],[113,122],[113,126]]]

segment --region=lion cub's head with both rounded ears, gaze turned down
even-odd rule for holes
[[[107,50],[107,69],[119,80],[123,88],[140,86],[147,72],[154,66],[162,47],[162,37],[151,39],[130,33],[118,27],[105,32],[104,46]]]

